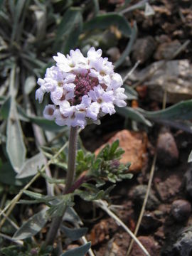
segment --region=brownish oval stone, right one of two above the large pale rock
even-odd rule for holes
[[[173,57],[176,50],[181,47],[181,43],[178,40],[174,40],[171,42],[161,43],[156,53],[154,54],[154,58],[156,60],[170,59]]]

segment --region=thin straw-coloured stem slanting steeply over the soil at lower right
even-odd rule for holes
[[[147,203],[147,200],[148,200],[148,197],[149,197],[149,191],[150,191],[151,183],[152,183],[153,176],[154,176],[155,164],[156,164],[156,154],[154,155],[154,160],[153,160],[153,163],[152,163],[152,166],[151,166],[149,182],[148,182],[148,185],[147,185],[147,189],[146,189],[146,194],[145,194],[145,197],[144,197],[144,203],[143,203],[143,206],[142,206],[142,210],[141,210],[141,213],[139,214],[139,219],[137,221],[137,225],[136,225],[136,228],[134,230],[134,235],[135,236],[137,236],[137,232],[139,230],[139,227],[140,227],[140,224],[142,222],[143,215],[144,215],[144,210],[146,208],[146,203]],[[131,240],[131,242],[129,244],[129,248],[127,250],[127,256],[129,255],[129,253],[132,250],[133,243],[134,243],[134,240]]]

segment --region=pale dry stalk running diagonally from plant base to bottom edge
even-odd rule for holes
[[[134,239],[135,242],[137,242],[137,245],[139,245],[139,247],[142,249],[142,251],[144,252],[145,255],[150,256],[149,252],[147,252],[147,250],[145,249],[145,247],[142,245],[142,243],[136,238],[136,236],[132,233],[131,230],[129,230],[129,228],[127,227],[127,225],[125,225],[122,220],[120,220],[117,215],[115,215],[112,210],[110,210],[108,208],[108,204],[106,201],[102,201],[102,200],[97,200],[94,201],[97,206],[100,206],[100,208],[102,208],[103,210],[105,210],[105,212],[110,215],[110,217],[114,218],[114,220],[117,222],[118,225],[121,225],[122,228],[124,228],[124,230],[130,235],[130,237],[132,237],[132,239]]]

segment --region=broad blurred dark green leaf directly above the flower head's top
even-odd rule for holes
[[[72,49],[82,31],[81,9],[72,7],[65,12],[56,33],[53,49],[68,53]]]

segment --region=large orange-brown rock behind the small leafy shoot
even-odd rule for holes
[[[147,135],[145,132],[130,132],[126,129],[117,132],[114,136],[107,142],[107,144],[112,144],[115,140],[119,139],[119,146],[124,149],[124,154],[122,155],[121,163],[127,164],[131,163],[129,171],[139,172],[146,166],[147,156],[146,156],[146,146],[147,146]],[[95,151],[97,155],[99,151],[106,144],[100,146],[99,149]]]

